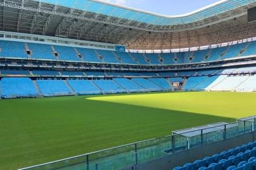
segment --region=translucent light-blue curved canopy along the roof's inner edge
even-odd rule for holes
[[[182,25],[201,21],[211,16],[226,13],[232,9],[252,3],[251,0],[222,0],[218,3],[206,6],[192,13],[180,16],[166,16],[162,14],[150,13],[139,9],[128,8],[117,4],[107,3],[99,0],[37,0],[42,3],[66,6],[91,13],[103,14],[108,17],[115,17],[124,20],[137,21],[149,25]]]

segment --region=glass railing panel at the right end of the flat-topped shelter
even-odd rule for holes
[[[220,140],[224,140],[224,125],[202,130],[202,142],[204,145]]]

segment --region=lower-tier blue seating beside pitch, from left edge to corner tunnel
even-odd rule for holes
[[[30,78],[4,77],[0,83],[2,98],[26,98],[42,96],[68,96],[102,93],[132,93],[143,91],[170,91],[172,85],[167,79],[125,79],[113,80],[37,80]]]

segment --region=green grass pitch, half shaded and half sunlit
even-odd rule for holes
[[[255,115],[256,93],[153,93],[0,100],[0,169],[85,154]]]

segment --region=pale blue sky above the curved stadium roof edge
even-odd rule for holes
[[[132,8],[143,9],[158,14],[185,14],[203,8],[219,0],[102,0],[122,4]]]

